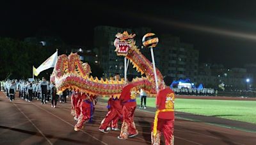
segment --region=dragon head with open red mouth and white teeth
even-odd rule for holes
[[[122,55],[125,57],[129,50],[135,46],[135,36],[135,34],[128,34],[127,31],[124,31],[123,33],[118,32],[114,41],[116,55]]]

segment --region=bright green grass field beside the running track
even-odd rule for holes
[[[147,106],[155,107],[155,98],[147,97]],[[256,101],[253,100],[175,99],[175,111],[256,124]]]

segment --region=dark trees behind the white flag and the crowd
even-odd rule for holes
[[[42,46],[12,38],[0,38],[0,80],[3,79],[27,79],[32,78],[32,67],[38,67],[48,57],[50,57],[56,48],[59,48],[58,55],[67,53],[67,46]],[[92,67],[93,76],[102,76],[102,68],[89,62]],[[49,78],[53,69],[41,72],[38,77]],[[99,74],[98,74],[99,72]]]

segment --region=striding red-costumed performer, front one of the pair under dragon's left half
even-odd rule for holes
[[[89,121],[92,118],[93,114],[93,95],[89,96],[87,93],[83,93],[81,95],[80,102],[81,103],[79,104],[79,108],[81,110],[81,113],[75,125],[75,131],[83,129],[84,121]]]

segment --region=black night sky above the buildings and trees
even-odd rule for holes
[[[44,32],[92,46],[97,25],[145,26],[192,43],[200,62],[256,63],[256,1],[1,1],[0,12],[2,37]]]

